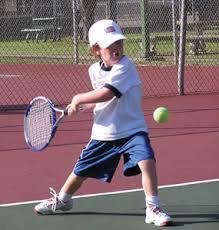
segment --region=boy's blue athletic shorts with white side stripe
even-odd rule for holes
[[[148,134],[138,132],[114,141],[90,140],[75,164],[73,173],[106,182],[113,178],[121,155],[124,159],[123,173],[133,176],[141,173],[138,162],[154,159],[154,151]]]

